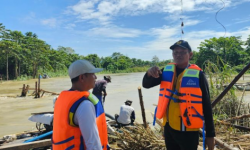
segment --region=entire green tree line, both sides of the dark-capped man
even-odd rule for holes
[[[211,38],[201,42],[198,50],[194,51],[192,63],[204,67],[207,60],[216,63],[220,58],[239,71],[250,61],[250,36],[245,42],[233,36]],[[152,56],[151,61],[144,61],[119,52],[108,57],[99,57],[97,54],[82,56],[70,47],[58,46],[53,49],[35,33],[11,31],[0,23],[0,74],[5,80],[22,76],[36,78],[38,74],[48,72],[66,73],[69,65],[77,59],[87,59],[95,67],[104,68],[110,73],[145,71],[150,66],[163,67],[171,61],[160,61],[156,55]]]

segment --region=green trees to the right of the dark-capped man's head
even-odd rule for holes
[[[191,62],[205,69],[205,62],[210,61],[223,67],[223,63],[239,72],[250,63],[250,35],[246,41],[241,37],[211,38],[200,43],[198,52],[194,51]]]

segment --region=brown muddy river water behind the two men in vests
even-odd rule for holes
[[[138,87],[142,86],[144,73],[112,74],[112,82],[107,86],[107,97],[104,109],[107,113],[114,115],[119,113],[120,106],[129,99],[133,101],[136,121],[142,122],[141,107],[139,102]],[[97,75],[97,80],[103,75]],[[43,98],[35,99],[32,96],[17,97],[21,94],[23,84],[35,87],[36,80],[8,81],[0,83],[0,137],[3,135],[19,133],[35,129],[35,123],[28,120],[31,113],[53,111],[53,98],[45,94]],[[249,82],[249,81],[248,81]],[[68,90],[71,82],[68,77],[50,78],[41,80],[41,89],[60,93]],[[151,89],[142,88],[144,107],[146,109],[147,121],[152,122],[151,112],[154,111],[158,101],[159,86]],[[31,94],[30,91],[29,94]],[[250,93],[246,93],[245,99],[250,102]]]

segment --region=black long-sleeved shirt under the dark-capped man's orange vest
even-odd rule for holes
[[[185,69],[180,69],[176,67],[176,75],[178,77]],[[161,70],[163,72],[163,69]],[[142,86],[144,88],[151,88],[157,86],[161,83],[162,74],[160,74],[159,78],[148,77],[147,73],[143,77]],[[200,89],[202,91],[202,106],[203,106],[203,114],[205,119],[205,127],[206,127],[206,137],[214,137],[214,122],[212,115],[212,106],[210,101],[210,94],[208,83],[205,74],[201,71],[199,74],[199,83]]]

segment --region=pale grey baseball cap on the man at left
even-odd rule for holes
[[[73,79],[84,73],[97,73],[101,72],[102,68],[95,68],[89,61],[87,60],[76,60],[69,66],[69,77]]]

